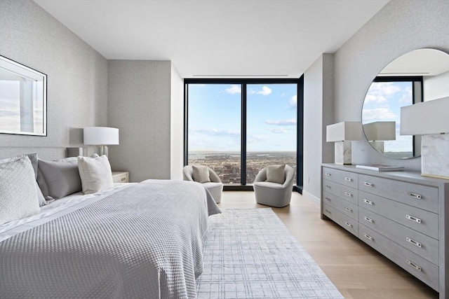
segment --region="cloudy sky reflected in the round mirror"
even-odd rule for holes
[[[411,82],[373,82],[366,93],[362,123],[395,121],[396,140],[384,141],[384,151],[413,151],[413,137],[400,136],[401,107],[412,104]]]

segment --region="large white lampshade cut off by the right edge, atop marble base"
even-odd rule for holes
[[[449,133],[449,97],[401,107],[401,135]]]

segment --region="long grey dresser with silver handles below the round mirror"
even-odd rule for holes
[[[449,180],[322,165],[321,218],[449,298]]]

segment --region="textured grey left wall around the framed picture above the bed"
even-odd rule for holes
[[[33,1],[0,0],[0,55],[48,76],[47,137],[0,146],[80,146],[81,128],[107,124],[107,60]]]

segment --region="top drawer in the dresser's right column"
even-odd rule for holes
[[[438,213],[438,188],[359,174],[358,190]]]

